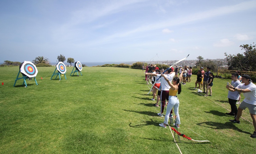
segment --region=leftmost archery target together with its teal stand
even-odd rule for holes
[[[21,78],[19,78],[19,73],[22,74]],[[37,71],[36,66],[33,63],[31,63],[30,61],[24,61],[23,63],[20,64],[19,73],[15,79],[15,82],[13,85],[14,87],[15,87],[16,82],[20,79],[23,79],[22,85],[24,85],[24,83],[25,83],[25,88],[28,87],[27,83],[26,83],[26,79],[32,80],[32,78],[34,78],[35,82],[36,82],[36,75],[37,75],[38,71]],[[37,82],[36,82],[36,85],[38,85]]]

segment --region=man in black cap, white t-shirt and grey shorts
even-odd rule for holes
[[[242,111],[246,108],[249,109],[252,123],[254,126],[254,132],[250,136],[251,138],[256,138],[256,85],[252,83],[251,77],[247,74],[242,75],[242,83],[237,87],[233,87],[229,84],[229,91],[238,91],[244,93],[245,99],[238,107],[237,117],[234,120],[230,120],[234,123],[240,123],[239,119],[242,116]]]

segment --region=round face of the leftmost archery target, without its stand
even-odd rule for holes
[[[24,76],[27,76],[29,78],[36,77],[38,73],[36,66],[30,61],[24,61],[23,63],[21,63],[19,69]]]

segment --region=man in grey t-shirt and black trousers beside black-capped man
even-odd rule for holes
[[[238,85],[241,84],[241,82],[237,79],[238,78],[238,74],[237,73],[233,73],[231,75],[231,85],[233,87],[237,87]],[[229,85],[226,86],[226,88],[229,88]],[[231,112],[230,113],[225,113],[229,116],[237,116],[237,106],[236,106],[236,102],[239,99],[239,95],[240,93],[238,91],[228,91],[227,94],[227,98],[228,98],[228,103],[231,106]]]

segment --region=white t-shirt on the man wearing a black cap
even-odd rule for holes
[[[256,85],[250,82],[247,86],[245,86],[245,83],[242,83],[238,85],[236,88],[239,89],[249,89],[250,92],[243,93],[245,96],[244,101],[248,104],[256,105]]]

